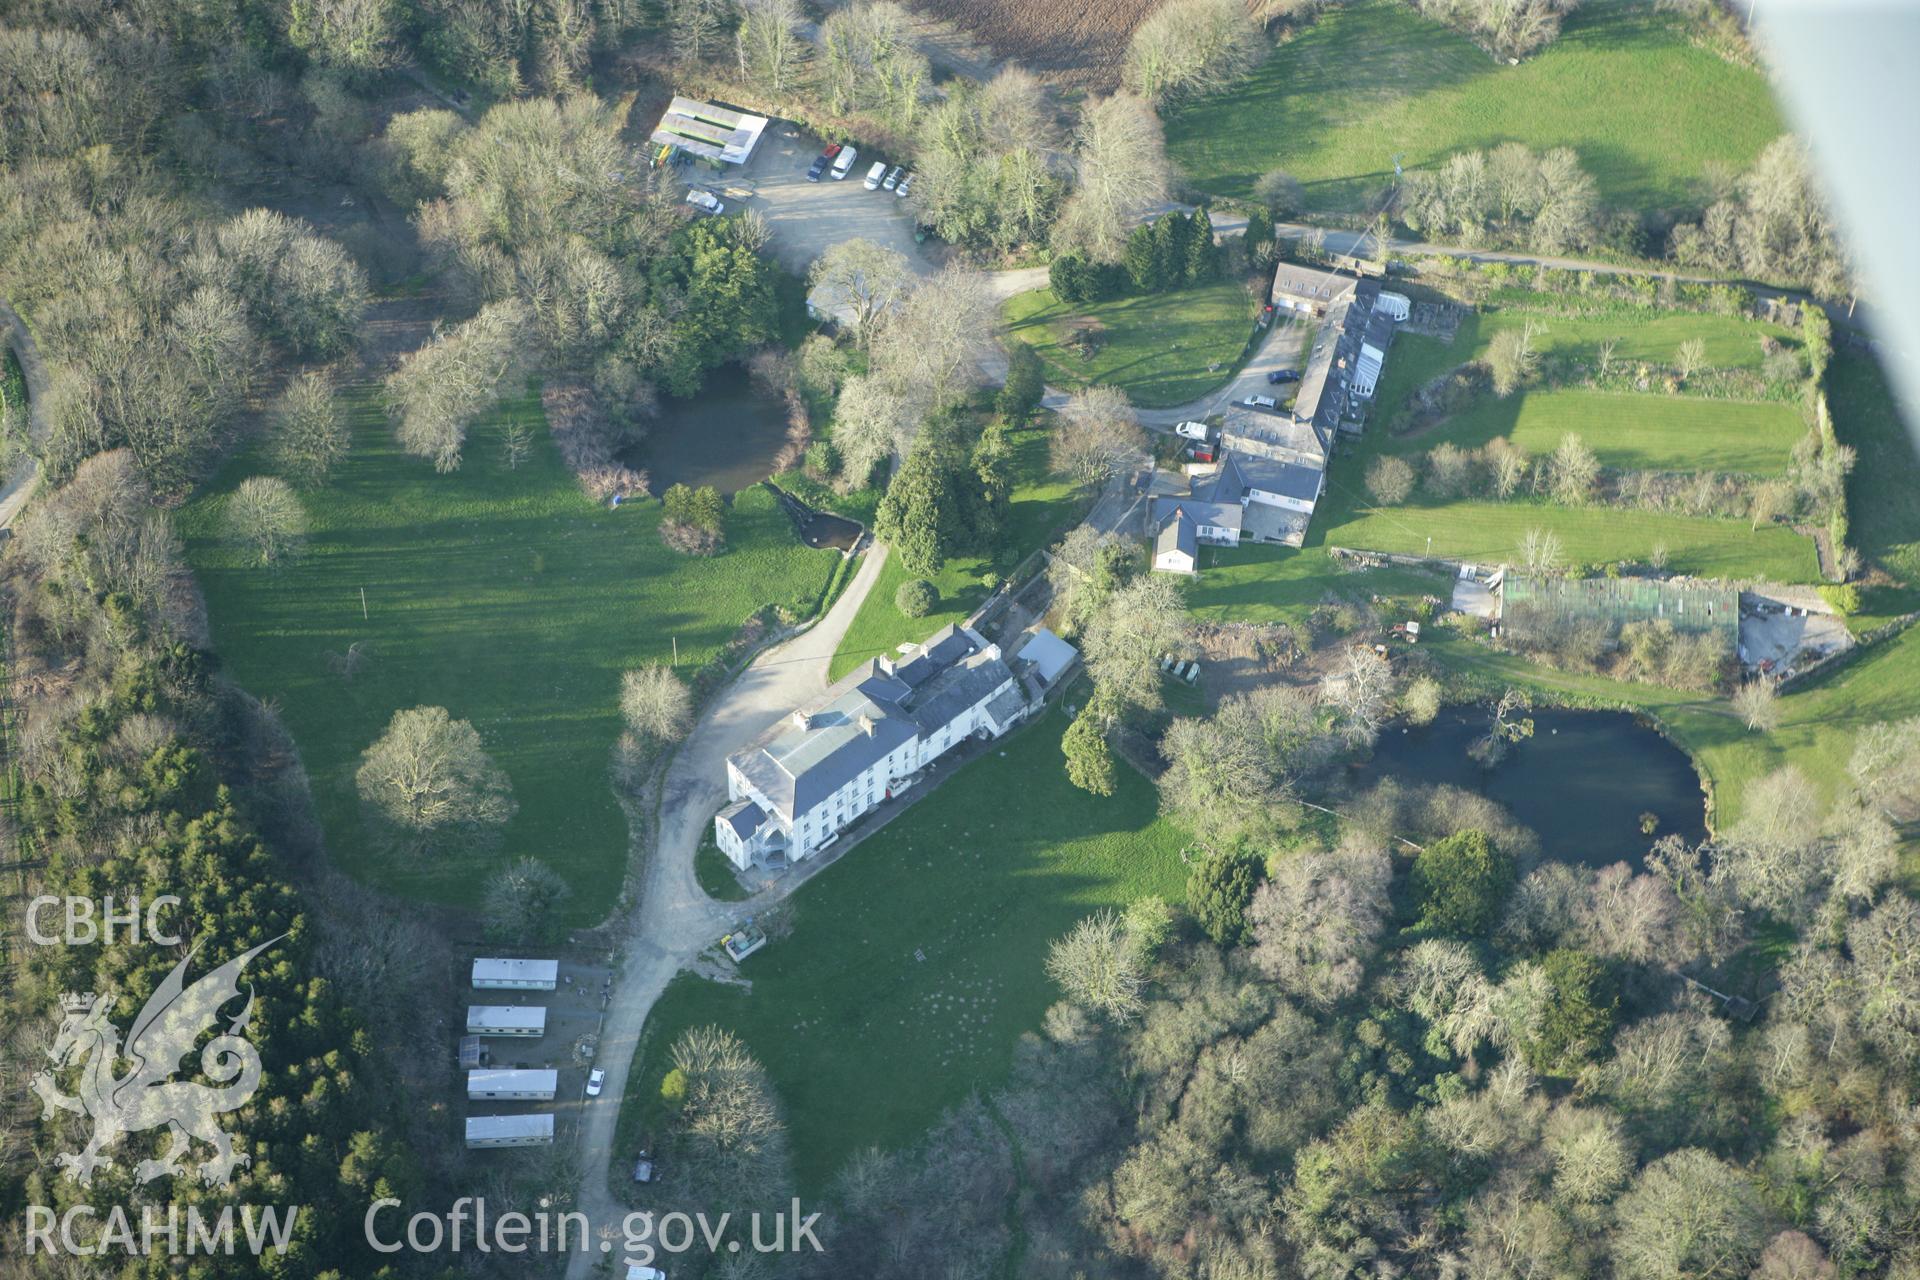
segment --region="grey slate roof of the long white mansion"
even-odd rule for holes
[[[791,821],[1012,677],[975,633],[948,626],[899,668],[866,660],[801,708],[804,727],[795,712],[732,764]]]

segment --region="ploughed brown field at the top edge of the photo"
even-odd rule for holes
[[[1004,59],[1066,79],[1112,83],[1133,29],[1160,0],[908,0]]]

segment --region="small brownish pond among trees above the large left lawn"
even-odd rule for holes
[[[660,415],[626,459],[651,474],[653,491],[710,484],[722,493],[766,480],[787,443],[787,405],[764,395],[737,365],[716,368],[699,395],[660,397]]]

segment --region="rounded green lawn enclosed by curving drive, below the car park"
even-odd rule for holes
[[[1046,363],[1050,384],[1104,382],[1142,409],[1169,409],[1233,376],[1256,315],[1248,292],[1221,280],[1077,307],[1052,290],[1035,290],[1010,297],[1002,319]],[[1102,345],[1092,359],[1081,359],[1068,342],[1089,324],[1102,330]]]

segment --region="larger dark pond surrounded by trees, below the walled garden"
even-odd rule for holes
[[[1596,867],[1640,864],[1651,844],[1642,814],[1659,819],[1655,839],[1705,839],[1707,800],[1693,762],[1626,712],[1536,710],[1534,737],[1492,770],[1467,754],[1486,723],[1480,706],[1450,706],[1425,729],[1388,725],[1356,781],[1476,791],[1532,827],[1544,856]]]

